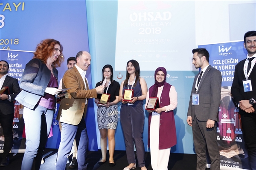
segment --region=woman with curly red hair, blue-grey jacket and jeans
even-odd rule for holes
[[[23,91],[15,98],[24,106],[26,150],[21,170],[39,170],[49,135],[58,89],[58,71],[63,47],[53,39],[42,40],[34,57],[26,64],[20,80]],[[33,166],[33,161],[35,161]]]

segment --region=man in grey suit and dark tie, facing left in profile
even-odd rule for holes
[[[205,48],[193,49],[192,53],[192,64],[201,68],[194,79],[187,113],[197,154],[197,170],[205,170],[207,151],[211,160],[210,170],[219,170],[216,125],[221,100],[221,72],[209,65],[209,52]]]

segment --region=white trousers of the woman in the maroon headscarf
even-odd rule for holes
[[[168,162],[171,147],[167,149],[159,148],[159,124],[160,116],[154,115],[150,124],[150,156],[153,170],[168,170]]]

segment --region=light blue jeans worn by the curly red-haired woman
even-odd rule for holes
[[[51,130],[53,110],[38,105],[35,110],[24,107],[23,118],[26,132],[26,150],[21,170],[31,170],[33,161],[39,170],[45,145]]]

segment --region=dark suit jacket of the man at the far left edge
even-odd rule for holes
[[[0,110],[3,114],[13,114],[14,113],[14,104],[13,101],[15,97],[20,93],[20,86],[18,80],[12,77],[6,76],[3,87],[9,88],[9,95],[11,97],[11,102],[9,100],[0,100]],[[0,87],[1,89],[3,87]]]

